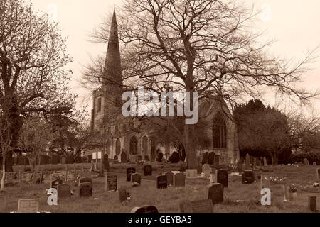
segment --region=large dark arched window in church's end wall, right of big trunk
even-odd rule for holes
[[[227,148],[227,126],[221,113],[213,119],[213,148]]]

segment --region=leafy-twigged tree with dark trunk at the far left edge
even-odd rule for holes
[[[23,0],[0,0],[0,108],[15,125],[11,147],[18,143],[22,116],[33,112],[50,114],[73,108],[75,96],[67,87],[65,65],[70,57],[57,23],[33,11]],[[6,103],[14,104],[10,109]],[[12,172],[12,155],[6,170]]]

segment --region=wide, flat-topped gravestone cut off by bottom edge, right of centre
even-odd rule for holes
[[[211,199],[196,201],[183,201],[180,204],[181,213],[213,213],[213,203]]]

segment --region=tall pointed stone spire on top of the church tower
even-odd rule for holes
[[[115,10],[112,16],[110,36],[108,40],[103,84],[105,85],[105,88],[106,88],[105,92],[111,93],[113,95],[120,92],[121,86],[122,86],[119,36],[118,36],[117,17],[116,17]]]

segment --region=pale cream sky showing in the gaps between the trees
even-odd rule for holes
[[[83,66],[90,56],[103,54],[107,45],[90,42],[90,33],[113,9],[122,6],[122,0],[31,0],[36,10],[48,12],[60,23],[64,36],[68,36],[68,53],[73,62],[68,68],[73,71],[70,86],[79,96],[77,107],[92,106],[90,92],[78,84]],[[320,45],[320,1],[319,0],[243,0],[255,9],[261,9],[260,20],[255,27],[265,31],[265,39],[275,40],[270,52],[279,57],[302,60],[305,53]],[[111,20],[111,18],[110,18]],[[310,70],[304,74],[303,87],[318,89],[320,86],[320,50]],[[274,104],[272,94],[268,98]],[[320,113],[320,99],[314,101]],[[90,109],[89,109],[90,110]]]

